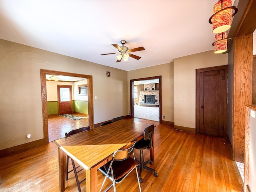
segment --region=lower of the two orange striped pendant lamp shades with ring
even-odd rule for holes
[[[227,38],[227,32],[218,33],[215,35],[214,53],[223,53],[227,51],[228,42],[231,38]]]

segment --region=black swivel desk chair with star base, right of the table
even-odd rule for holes
[[[142,178],[141,178],[142,169],[152,171],[152,172],[154,172],[154,176],[158,177],[158,173],[156,172],[156,170],[146,166],[147,163],[152,164],[153,163],[152,160],[149,159],[144,162],[144,157],[143,157],[143,150],[145,150],[145,149],[150,150],[153,146],[153,143],[152,143],[152,135],[153,134],[154,134],[154,125],[152,124],[144,130],[143,138],[141,140],[139,140],[138,142],[136,142],[136,144],[134,146],[134,148],[140,150],[140,160],[138,160],[137,158],[136,158],[136,160],[140,163],[139,179],[140,179],[141,183],[142,183]]]

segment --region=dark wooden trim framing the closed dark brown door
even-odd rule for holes
[[[196,69],[196,133],[200,133],[200,72],[208,72],[215,70],[224,70],[225,74],[225,84],[224,89],[224,98],[227,101],[228,98],[228,65],[208,67]],[[227,102],[224,102],[224,137],[226,137],[227,133],[227,114],[228,114],[228,106]]]

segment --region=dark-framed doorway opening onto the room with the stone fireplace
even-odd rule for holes
[[[131,118],[162,122],[162,76],[130,80],[130,109]]]

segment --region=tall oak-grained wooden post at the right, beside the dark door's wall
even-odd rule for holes
[[[253,34],[234,38],[233,76],[233,158],[244,163],[246,104],[252,104]]]

